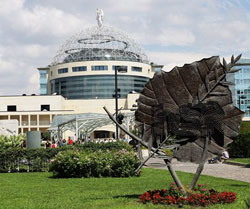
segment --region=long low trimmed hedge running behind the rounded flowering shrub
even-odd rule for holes
[[[60,148],[38,148],[38,149],[21,149],[21,148],[0,148],[0,172],[36,172],[48,171],[51,159],[61,151],[84,150],[85,152],[95,152],[98,150],[115,151],[115,150],[131,151],[130,145],[124,142],[108,142],[108,143],[86,143],[75,146],[65,146]]]

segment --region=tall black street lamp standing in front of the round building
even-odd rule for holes
[[[118,89],[118,82],[117,82],[117,72],[119,73],[126,73],[128,71],[127,66],[114,66],[115,70],[115,94],[113,97],[115,97],[115,119],[117,121],[117,116],[118,116],[118,98],[121,96],[118,94],[120,92],[120,89]],[[115,128],[115,138],[118,139],[118,125],[116,125]]]

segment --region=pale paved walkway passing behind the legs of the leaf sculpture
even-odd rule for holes
[[[166,164],[162,159],[151,158],[147,163],[147,167],[167,169]],[[189,162],[172,162],[173,168],[176,171],[195,173],[197,164]],[[236,166],[229,164],[205,164],[202,175],[221,177],[225,179],[234,179],[250,183],[250,167]]]

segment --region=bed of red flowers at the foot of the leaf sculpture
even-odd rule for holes
[[[205,207],[216,203],[232,203],[236,200],[236,194],[226,191],[218,192],[213,189],[207,190],[205,185],[198,184],[197,188],[185,195],[181,188],[175,187],[175,183],[172,183],[169,189],[147,191],[139,199],[144,204],[152,202],[153,204],[188,204]]]

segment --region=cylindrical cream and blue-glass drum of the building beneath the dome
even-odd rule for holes
[[[55,65],[50,68],[48,90],[67,99],[111,99],[115,90],[115,68],[120,97],[140,92],[152,76],[151,66],[127,61],[87,61]]]

